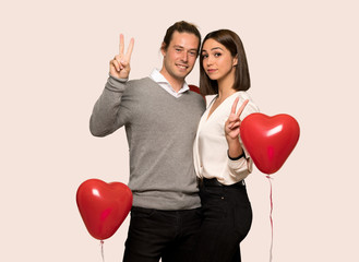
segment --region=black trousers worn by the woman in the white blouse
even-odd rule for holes
[[[203,222],[193,262],[239,262],[239,243],[252,224],[252,209],[244,181],[223,186],[216,179],[201,181]]]

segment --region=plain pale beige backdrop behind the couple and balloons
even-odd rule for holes
[[[273,176],[275,262],[359,261],[359,38],[356,0],[1,1],[1,261],[100,261],[75,192],[88,178],[127,182],[123,130],[88,131],[118,51],[135,38],[131,78],[160,68],[165,29],[187,20],[203,36],[237,32],[262,112],[294,116],[299,144]],[[198,66],[188,82],[198,84]],[[243,261],[268,261],[270,183],[247,180],[252,229]],[[128,219],[105,241],[120,261]]]

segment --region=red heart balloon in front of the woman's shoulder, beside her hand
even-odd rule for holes
[[[299,140],[299,124],[289,115],[254,112],[243,119],[240,136],[254,165],[264,174],[276,172]]]

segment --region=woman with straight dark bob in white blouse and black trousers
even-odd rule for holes
[[[193,148],[203,210],[193,261],[241,261],[239,243],[252,223],[243,179],[253,164],[242,146],[239,127],[259,109],[246,93],[250,76],[236,33],[210,33],[200,56],[201,93],[215,96],[201,118]]]

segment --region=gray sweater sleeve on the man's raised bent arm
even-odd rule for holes
[[[89,131],[93,135],[106,136],[127,122],[129,111],[121,106],[127,85],[127,79],[108,78],[89,119]]]

